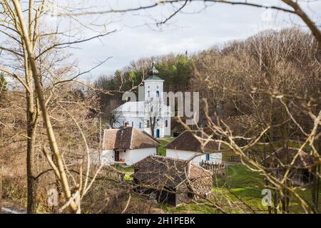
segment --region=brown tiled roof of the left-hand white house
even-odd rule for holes
[[[145,131],[132,127],[103,131],[103,150],[152,148],[160,145],[158,140]]]

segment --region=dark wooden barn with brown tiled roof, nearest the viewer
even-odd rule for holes
[[[186,160],[152,155],[133,167],[138,192],[153,193],[158,202],[174,207],[208,197],[212,190],[212,173]]]

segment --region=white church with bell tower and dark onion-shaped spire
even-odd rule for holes
[[[153,63],[144,80],[144,98],[141,101],[128,101],[114,110],[113,128],[127,125],[156,138],[170,137],[170,106],[163,98],[163,79],[158,77],[158,70]],[[154,128],[154,133],[152,129]]]

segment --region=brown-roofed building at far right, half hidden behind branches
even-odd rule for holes
[[[294,163],[290,165],[293,160]],[[279,180],[282,180],[290,165],[287,179],[292,185],[305,185],[313,180],[312,172],[308,168],[313,165],[313,157],[299,148],[288,147],[285,149],[285,147],[281,147],[268,156],[263,163],[265,163],[267,171],[272,172]]]

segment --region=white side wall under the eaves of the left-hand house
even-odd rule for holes
[[[133,165],[136,162],[148,157],[149,155],[156,155],[157,148],[141,148],[141,149],[134,149],[134,150],[126,150],[126,152],[119,152],[119,159],[124,160],[126,165]]]

